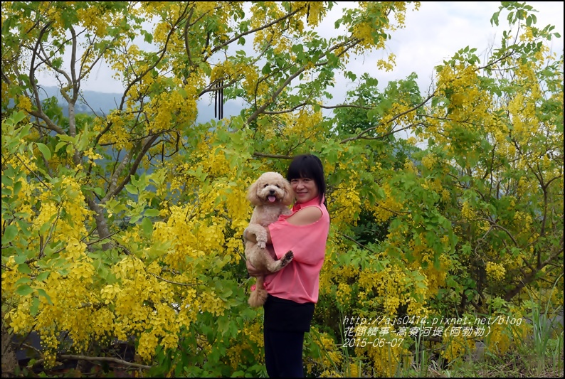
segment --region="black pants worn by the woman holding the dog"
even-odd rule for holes
[[[314,307],[314,303],[298,304],[268,295],[263,306],[263,340],[270,378],[304,378],[304,333],[310,331]]]

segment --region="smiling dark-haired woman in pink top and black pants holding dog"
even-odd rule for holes
[[[304,333],[318,301],[320,269],[324,263],[329,214],[322,162],[315,155],[296,156],[287,171],[287,180],[295,193],[292,214],[281,215],[265,228],[268,249],[278,259],[288,250],[294,259],[275,274],[259,272],[247,262],[251,276],[265,274],[267,301],[265,319],[265,365],[270,378],[304,377],[302,348]],[[254,235],[246,235],[254,240]]]

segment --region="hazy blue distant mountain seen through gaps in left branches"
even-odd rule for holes
[[[53,96],[57,98],[60,107],[63,109],[63,114],[65,115],[65,117],[68,117],[67,102],[65,102],[65,100],[63,100],[63,96],[60,95],[59,88],[41,86],[39,95],[41,100]],[[105,93],[83,90],[83,97],[85,98],[86,102],[88,102],[88,105],[90,105],[90,107],[87,107],[85,103],[79,98],[78,102],[75,105],[77,113],[93,114],[92,110],[90,110],[90,108],[92,108],[97,114],[108,114],[110,110],[115,110],[120,105],[120,101],[122,101],[122,94],[120,93]],[[223,105],[223,117],[235,116],[236,114],[239,114],[242,109],[243,105],[241,105],[241,103],[237,102],[236,100],[228,100]],[[213,102],[210,102],[207,98],[201,99],[198,105],[198,117],[196,118],[196,122],[204,123],[210,121],[213,118]]]

